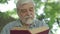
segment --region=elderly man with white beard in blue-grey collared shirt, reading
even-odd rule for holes
[[[8,23],[1,34],[10,34],[10,30],[14,30],[14,27],[23,27],[24,29],[34,29],[45,26],[48,28],[44,21],[35,19],[34,2],[33,0],[18,0],[17,14],[20,17],[19,20]],[[44,28],[43,28],[44,29]]]

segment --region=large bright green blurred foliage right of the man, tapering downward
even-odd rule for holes
[[[49,27],[52,28],[52,25],[55,22],[56,17],[60,13],[60,4],[59,3],[49,3],[47,2],[45,6],[45,14],[47,18],[50,18],[50,22],[48,23]]]

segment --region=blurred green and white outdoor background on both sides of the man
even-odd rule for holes
[[[19,19],[17,0],[0,0],[0,31],[9,22]],[[34,0],[35,16],[48,24],[51,34],[60,32],[60,0]]]

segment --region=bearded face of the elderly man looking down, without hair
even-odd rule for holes
[[[18,7],[18,15],[24,24],[32,24],[34,19],[34,5],[32,3],[25,3]]]

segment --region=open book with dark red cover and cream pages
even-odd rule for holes
[[[49,33],[49,28],[44,26],[33,29],[14,27],[12,30],[10,30],[10,34],[48,34],[48,33]]]

